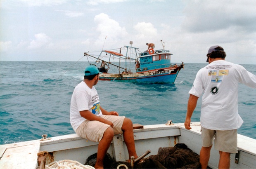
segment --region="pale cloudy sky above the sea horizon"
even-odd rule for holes
[[[206,63],[220,45],[226,61],[256,64],[255,9],[256,0],[0,0],[0,61],[80,61],[162,40],[173,63]]]

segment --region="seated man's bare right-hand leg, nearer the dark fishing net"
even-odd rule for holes
[[[122,130],[123,130],[123,139],[128,149],[129,162],[130,162],[131,156],[134,156],[135,159],[138,157],[135,150],[135,144],[134,144],[133,122],[130,119],[125,118],[123,121]]]

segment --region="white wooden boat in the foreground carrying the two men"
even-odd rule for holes
[[[201,149],[201,126],[199,122],[192,122],[191,127],[191,130],[187,130],[183,123],[173,124],[171,120],[168,120],[166,124],[145,126],[134,124],[137,154],[140,155],[140,159],[147,159],[151,155],[156,155],[160,147],[173,147],[178,143],[184,143],[198,155]],[[85,164],[88,157],[97,153],[97,146],[97,142],[81,138],[77,134],[52,138],[47,138],[47,135],[43,134],[42,139],[0,145],[0,168],[43,169],[53,164],[61,164],[61,162],[81,165]],[[238,134],[238,152],[231,154],[230,168],[252,169],[256,167],[255,139]],[[107,153],[116,161],[128,160],[123,135],[114,136]],[[212,148],[209,167],[218,168],[218,160],[219,153]]]

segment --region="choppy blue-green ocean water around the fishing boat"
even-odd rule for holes
[[[124,63],[122,63],[124,64]],[[178,63],[179,64],[179,63]],[[88,62],[0,62],[0,145],[74,134],[69,106],[74,87]],[[131,65],[135,66],[134,63]],[[142,125],[185,120],[188,91],[203,63],[185,63],[175,84],[99,81],[101,106]],[[242,65],[256,74],[255,65]],[[118,70],[111,67],[109,72]],[[239,134],[256,138],[256,89],[239,85]],[[192,122],[199,121],[201,99]]]

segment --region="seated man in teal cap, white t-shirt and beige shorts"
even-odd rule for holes
[[[136,159],[138,156],[135,150],[132,121],[100,106],[99,95],[94,87],[99,80],[99,73],[96,66],[90,65],[85,68],[84,80],[75,87],[71,97],[70,123],[79,136],[99,142],[94,167],[103,169],[104,156],[114,134],[123,133],[129,158],[134,156]]]

